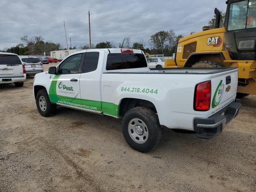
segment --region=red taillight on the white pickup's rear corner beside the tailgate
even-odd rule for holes
[[[208,111],[211,106],[211,81],[202,82],[196,85],[194,110]]]

